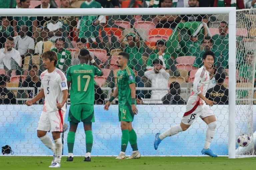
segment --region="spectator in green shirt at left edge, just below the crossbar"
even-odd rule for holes
[[[11,17],[7,17],[7,16],[1,17],[2,25],[0,26],[0,31],[3,33],[3,35],[6,38],[14,37],[14,28],[10,24],[11,20],[12,20]]]

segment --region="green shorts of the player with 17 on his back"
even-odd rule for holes
[[[72,121],[74,123],[79,123],[80,121],[83,123],[95,122],[93,105],[70,105],[68,112],[68,121]]]

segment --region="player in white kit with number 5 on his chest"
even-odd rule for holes
[[[54,153],[54,158],[49,167],[60,167],[62,155],[62,141],[60,133],[63,130],[63,120],[66,113],[66,101],[68,98],[67,79],[65,74],[55,67],[58,61],[56,52],[46,51],[41,54],[46,70],[41,74],[42,90],[32,99],[27,100],[26,105],[31,106],[36,101],[45,97],[43,112],[37,126],[37,136]],[[46,135],[52,131],[52,139]]]

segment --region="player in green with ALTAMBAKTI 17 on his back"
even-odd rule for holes
[[[80,64],[70,66],[67,70],[67,84],[70,90],[70,108],[68,121],[70,129],[68,132],[68,158],[67,161],[73,161],[73,148],[75,142],[75,133],[80,121],[84,124],[86,155],[84,161],[91,161],[91,150],[93,143],[92,122],[94,122],[94,75],[102,76],[98,64],[92,59],[87,49],[82,49],[78,56]],[[88,60],[92,65],[86,64]]]

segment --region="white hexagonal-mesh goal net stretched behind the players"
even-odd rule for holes
[[[108,112],[102,104],[108,101],[116,87],[119,69],[116,59],[122,51],[129,53],[128,66],[137,75],[139,114],[135,116],[133,127],[141,154],[201,155],[207,129],[201,119],[188,130],[164,140],[158,150],[154,150],[153,141],[155,133],[180,123],[192,93],[195,73],[203,65],[202,55],[212,50],[215,63],[210,70],[207,97],[217,101],[218,105],[211,107],[217,119],[211,149],[217,155],[254,155],[254,15],[245,10],[237,11],[235,39],[234,35],[229,36],[234,33],[234,22],[230,25],[227,12],[232,8],[140,8],[145,4],[130,4],[129,7],[138,7],[130,9],[97,7],[99,9],[85,10],[82,4],[81,9],[10,9],[11,12],[0,12],[0,78],[6,80],[5,90],[12,92],[0,93],[3,104],[0,106],[0,144],[10,145],[16,155],[51,155],[36,136],[44,100],[32,107],[24,105],[40,90],[39,75],[44,70],[40,54],[47,50],[56,51],[56,67],[65,72],[69,66],[79,63],[79,51],[87,48],[104,73],[94,77],[92,155],[117,155],[120,151],[118,100],[112,102]],[[232,46],[235,41],[236,48]],[[235,51],[236,63],[234,55],[230,56]],[[10,62],[5,60],[8,57]],[[234,67],[236,78],[232,79]],[[3,81],[1,87],[5,87]],[[235,112],[231,117],[236,115],[231,119],[232,125],[235,122],[232,133],[229,132],[230,108]],[[66,115],[68,109],[69,105]],[[67,116],[65,122],[69,124]],[[238,147],[237,136],[243,133],[250,136],[251,144]],[[64,155],[68,154],[66,134]],[[131,151],[129,146],[127,151]],[[85,133],[79,124],[74,154],[84,155],[85,152]]]

